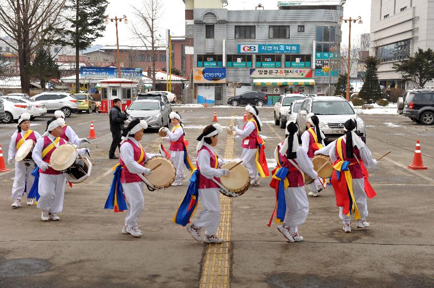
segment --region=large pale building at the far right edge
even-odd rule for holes
[[[406,83],[392,69],[394,63],[409,58],[418,48],[434,47],[433,21],[431,0],[371,1],[371,54],[381,62],[378,79],[386,89],[405,88]]]

